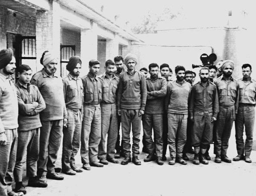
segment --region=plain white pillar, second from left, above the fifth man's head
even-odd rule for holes
[[[97,23],[91,20],[90,29],[81,29],[81,60],[82,70],[80,76],[84,76],[89,72],[89,61],[97,59],[97,43],[98,36],[95,28]]]

